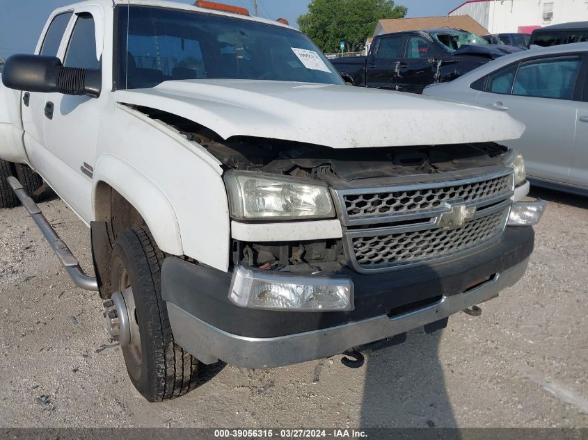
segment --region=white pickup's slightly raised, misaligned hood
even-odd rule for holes
[[[431,97],[283,81],[166,81],[119,90],[120,104],[155,108],[224,139],[253,136],[333,148],[395,147],[520,138],[506,113]]]

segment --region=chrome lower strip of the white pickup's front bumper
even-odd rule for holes
[[[170,302],[168,313],[176,343],[203,363],[214,364],[221,359],[239,367],[274,368],[338,355],[349,348],[380,341],[447,318],[513,286],[525,274],[527,264],[528,259],[496,274],[490,281],[467,293],[445,296],[435,304],[393,318],[378,316],[276,338],[248,338],[224,332]]]

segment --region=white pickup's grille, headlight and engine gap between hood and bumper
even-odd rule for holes
[[[473,250],[498,238],[507,223],[515,181],[509,150],[494,142],[333,149],[263,138],[223,140],[182,117],[139,110],[218,158],[228,186],[236,174],[249,177],[244,178],[251,187],[247,194],[244,188],[228,190],[233,229],[262,224],[267,234],[255,241],[233,236],[235,267],[319,274],[348,266],[360,273],[386,272]],[[322,211],[310,213],[318,208],[301,202],[297,185],[301,191],[324,188],[311,201],[322,204]],[[252,212],[235,209],[237,199],[248,199]],[[468,215],[459,217],[466,207]],[[329,219],[340,228],[328,238],[282,241],[271,232],[272,225],[311,227],[312,221]]]

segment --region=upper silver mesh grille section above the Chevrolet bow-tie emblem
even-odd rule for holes
[[[507,195],[512,190],[511,174],[494,179],[445,187],[402,189],[381,193],[343,195],[344,210],[350,220],[379,215],[413,213],[438,209],[445,202],[461,199],[477,202]]]

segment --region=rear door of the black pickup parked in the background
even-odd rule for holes
[[[367,87],[396,90],[399,63],[404,58],[404,35],[390,35],[378,39],[367,58],[365,84]]]

